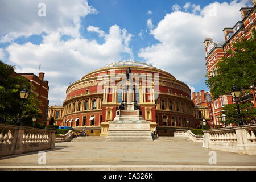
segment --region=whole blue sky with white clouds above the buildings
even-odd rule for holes
[[[241,20],[241,1],[0,0],[0,59],[16,72],[46,73],[49,105],[69,83],[114,61],[134,60],[170,72],[193,91],[204,84],[204,38],[224,40]]]

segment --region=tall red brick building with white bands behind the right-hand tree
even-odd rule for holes
[[[222,57],[228,57],[226,52],[228,49],[233,50],[232,44],[236,41],[244,39],[250,39],[251,33],[255,30],[255,22],[256,22],[256,2],[252,0],[253,7],[242,7],[240,9],[242,20],[238,21],[234,24],[233,27],[224,28],[224,40],[225,41],[213,41],[210,38],[204,40],[205,46],[205,59],[207,60],[207,73],[208,76],[211,74],[210,71],[216,69],[216,63],[222,59]],[[254,93],[253,93],[254,92]],[[252,97],[247,99],[246,101],[251,101],[254,103],[254,107],[256,107],[255,102],[255,91],[251,90]],[[241,100],[242,102],[242,100]],[[233,104],[234,100],[230,94],[226,94],[220,96],[217,100],[211,101],[211,107],[213,110],[213,122],[214,125],[220,125],[218,121],[220,121],[220,114],[222,111],[222,107],[226,104]]]

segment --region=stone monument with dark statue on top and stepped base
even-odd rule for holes
[[[142,110],[134,101],[134,84],[131,79],[131,69],[126,70],[124,101],[118,107],[113,121],[109,122],[106,141],[152,141],[150,122],[142,116]]]

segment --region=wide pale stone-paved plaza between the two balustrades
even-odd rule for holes
[[[85,139],[86,137],[84,137]],[[105,137],[55,143],[46,151],[46,166],[81,165],[207,165],[209,152],[202,143],[183,137],[159,137],[153,142],[105,142]],[[216,151],[217,166],[253,166],[256,156]],[[0,168],[42,166],[38,152],[0,158]],[[212,165],[214,166],[214,165]]]

